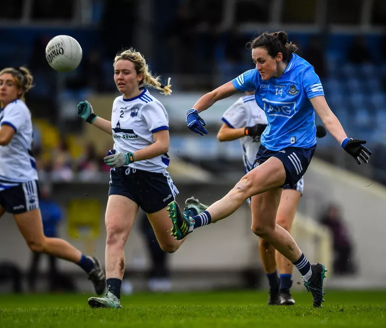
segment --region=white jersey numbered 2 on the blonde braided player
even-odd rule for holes
[[[114,100],[111,116],[114,149],[117,152],[134,152],[154,143],[153,133],[169,129],[166,109],[147,89],[134,98],[119,96]],[[132,169],[147,172],[165,172],[169,165],[167,153],[154,158],[135,161]]]

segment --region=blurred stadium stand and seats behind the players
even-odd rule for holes
[[[328,266],[326,288],[386,288],[385,22],[384,0],[2,1],[0,63],[27,65],[35,77],[27,97],[34,153],[42,188],[63,213],[58,235],[104,260],[110,177],[102,158],[113,143],[84,124],[76,104],[87,99],[98,115],[111,116],[118,51],[133,46],[152,72],[165,81],[172,78],[173,94],[158,96],[170,120],[168,171],[179,202],[194,195],[211,204],[243,175],[239,142],[216,138],[222,113],[238,96],[203,114],[210,132],[205,137],[186,128],[186,110],[205,92],[253,67],[245,44],[256,33],[285,30],[314,65],[347,134],[366,139],[373,151],[370,163],[359,167],[331,135],[318,140],[294,234],[310,260]],[[59,34],[74,37],[83,49],[74,72],[58,73],[46,62],[45,46]],[[138,226],[125,248],[128,293],[149,288],[151,260]],[[4,216],[0,227],[0,292],[13,290],[12,280],[21,286],[16,290],[28,292],[32,254],[11,216]],[[167,256],[171,288],[265,288],[257,247],[245,204]],[[47,268],[44,262],[37,291],[48,288]],[[77,266],[59,261],[58,271],[73,277],[77,291],[91,291]],[[301,281],[297,272],[294,280]]]

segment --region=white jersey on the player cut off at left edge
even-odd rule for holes
[[[35,158],[32,154],[32,120],[27,105],[20,99],[0,111],[0,125],[15,130],[9,144],[0,145],[0,191],[20,183],[38,180]]]

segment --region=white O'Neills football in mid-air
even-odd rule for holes
[[[58,35],[46,46],[48,64],[59,72],[69,72],[77,68],[82,60],[82,48],[68,35]]]

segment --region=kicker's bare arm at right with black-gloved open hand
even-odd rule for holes
[[[340,124],[338,118],[331,111],[324,96],[317,96],[310,99],[315,111],[322,119],[326,129],[332,136],[338,140],[344,150],[354,157],[356,162],[360,165],[362,162],[367,163],[370,159],[371,150],[366,148],[363,144],[366,140],[348,138]]]

